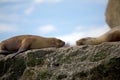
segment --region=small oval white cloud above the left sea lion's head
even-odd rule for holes
[[[55,26],[53,26],[53,25],[45,25],[45,26],[39,27],[37,32],[40,32],[42,34],[47,34],[47,33],[53,32],[53,31],[56,31]]]

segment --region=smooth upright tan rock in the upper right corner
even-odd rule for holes
[[[106,22],[111,28],[120,25],[120,0],[108,1]]]

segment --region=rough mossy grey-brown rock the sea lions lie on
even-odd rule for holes
[[[120,42],[29,50],[4,58],[0,80],[120,79]]]

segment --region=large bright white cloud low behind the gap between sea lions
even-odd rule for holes
[[[75,45],[76,40],[84,38],[84,37],[98,37],[109,30],[107,25],[101,27],[84,27],[79,26],[76,27],[75,31],[70,34],[58,36],[64,40],[66,43],[70,43],[71,45]]]

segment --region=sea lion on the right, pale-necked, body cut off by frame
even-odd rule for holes
[[[112,28],[107,33],[97,38],[87,37],[76,41],[76,45],[97,45],[103,42],[120,41],[120,26]]]

